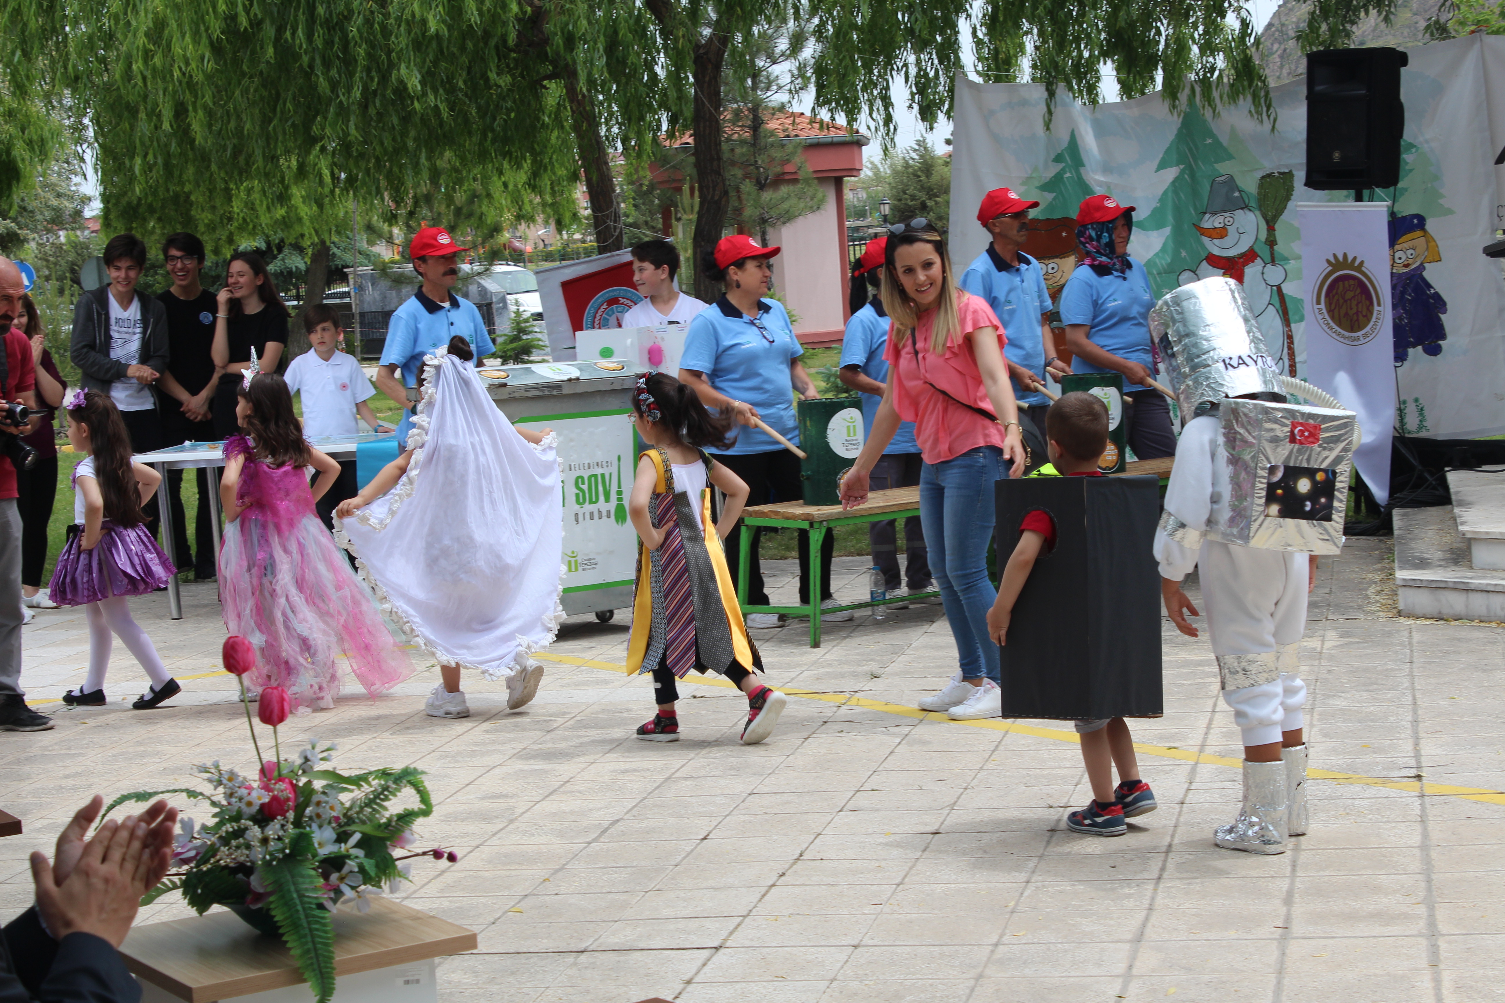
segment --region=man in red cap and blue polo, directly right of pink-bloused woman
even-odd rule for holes
[[[1046,370],[1057,379],[1070,370],[1057,358],[1044,272],[1035,259],[1020,250],[1029,238],[1029,211],[1038,206],[1038,202],[1020,198],[1013,188],[995,188],[983,195],[977,221],[992,242],[962,272],[959,284],[986,299],[1002,322],[1007,338],[1004,358],[1014,383],[1014,400],[1028,411],[1043,442],[1050,398],[1035,388],[1044,385]]]

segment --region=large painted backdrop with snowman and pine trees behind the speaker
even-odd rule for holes
[[[1505,226],[1505,170],[1493,165],[1505,146],[1505,101],[1487,98],[1505,93],[1505,36],[1470,35],[1407,53],[1400,183],[1370,192],[1394,203],[1385,274],[1394,311],[1383,337],[1400,386],[1395,429],[1499,435],[1505,278],[1479,250]],[[1047,132],[1040,86],[957,75],[950,230],[957,268],[987,244],[975,218],[983,194],[1007,185],[1041,203],[1031,242],[1038,239],[1040,256],[1055,266],[1047,269],[1054,298],[1073,266],[1054,238],[1075,229],[1082,198],[1109,192],[1136,206],[1129,253],[1144,262],[1157,296],[1207,275],[1242,281],[1270,353],[1284,371],[1305,376],[1311,310],[1303,275],[1321,262],[1302,260],[1296,206],[1353,195],[1300,183],[1305,78],[1272,96],[1273,128],[1255,122],[1248,105],[1209,117],[1195,104],[1172,114],[1159,93],[1097,108],[1063,93]]]

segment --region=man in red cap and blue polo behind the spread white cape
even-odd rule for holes
[[[465,335],[477,359],[492,349],[480,310],[450,292],[461,277],[459,256],[468,250],[458,247],[442,227],[423,227],[408,245],[412,271],[423,278],[423,286],[393,311],[387,323],[387,344],[381,350],[381,368],[376,370],[376,388],[403,408],[397,442],[405,447],[412,429],[414,403],[408,388],[418,382],[423,356],[448,344],[456,334]]]

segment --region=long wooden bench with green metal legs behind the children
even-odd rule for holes
[[[1171,477],[1175,457],[1159,460],[1132,460],[1123,474],[1114,477],[1133,477],[1153,474],[1163,484]],[[865,606],[888,606],[905,603],[915,595],[892,595],[880,601],[864,600],[861,603],[846,603],[822,611],[820,608],[820,546],[826,534],[835,526],[850,526],[859,522],[882,522],[885,519],[908,519],[920,514],[918,487],[891,487],[873,492],[867,496],[867,504],[858,508],[844,510],[841,505],[807,505],[804,502],[774,502],[769,505],[752,505],[742,510],[742,522],[749,526],[781,526],[789,529],[804,529],[810,534],[810,603],[807,606],[749,606],[748,598],[748,561],[752,556],[752,534],[740,534],[740,559],[737,561],[737,603],[742,615],[746,614],[784,614],[786,617],[810,617],[810,647],[820,647],[820,615],[838,609],[862,609]],[[924,595],[938,595],[932,589]]]

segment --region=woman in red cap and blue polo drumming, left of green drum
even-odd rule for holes
[[[722,238],[715,251],[701,262],[704,274],[722,281],[725,293],[689,322],[685,352],[679,359],[679,380],[695,391],[700,403],[719,414],[731,412],[743,426],[724,453],[712,453],[727,469],[746,481],[751,504],[795,501],[804,495],[799,483],[799,457],[786,450],[766,432],[754,427],[762,420],[768,427],[799,445],[799,424],[795,420],[795,394],[814,400],[820,394],[801,364],[805,353],[789,323],[784,304],[763,299],[774,269],[769,260],[780,248],[759,247],[745,235]],[[737,579],[742,526],[725,537],[727,568]],[[748,567],[748,605],[768,606],[763,571],[759,567],[757,541],[762,528],[752,531]],[[810,601],[810,534],[799,534],[799,603]],[[835,537],[826,534],[820,547],[820,598],[831,598],[831,553]],[[826,614],[823,620],[852,620],[852,611]],[[751,614],[748,627],[778,627],[778,614]]]

